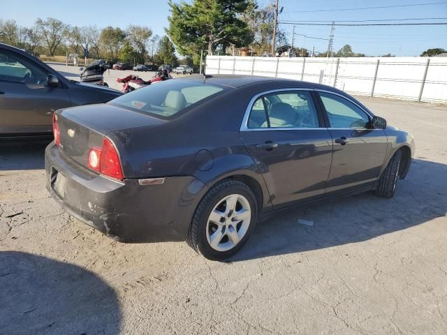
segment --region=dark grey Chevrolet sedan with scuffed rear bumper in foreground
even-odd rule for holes
[[[363,191],[393,197],[414,153],[409,133],[343,91],[234,75],[58,110],[54,132],[47,188],[69,213],[119,241],[186,239],[213,260],[274,211]]]

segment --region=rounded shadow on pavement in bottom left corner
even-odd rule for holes
[[[0,253],[0,334],[119,334],[115,291],[76,265]]]

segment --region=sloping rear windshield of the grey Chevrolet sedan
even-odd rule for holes
[[[167,80],[124,94],[110,103],[170,119],[224,90],[225,87],[196,80]]]

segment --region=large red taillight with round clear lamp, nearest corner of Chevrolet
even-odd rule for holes
[[[119,161],[118,151],[107,137],[104,137],[103,147],[93,147],[89,151],[87,166],[105,176],[123,180],[123,171]]]

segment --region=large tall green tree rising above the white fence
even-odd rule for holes
[[[242,47],[251,43],[253,35],[240,15],[249,0],[169,1],[169,28],[166,33],[182,55],[193,55],[198,64],[200,50],[212,55],[218,47]]]

